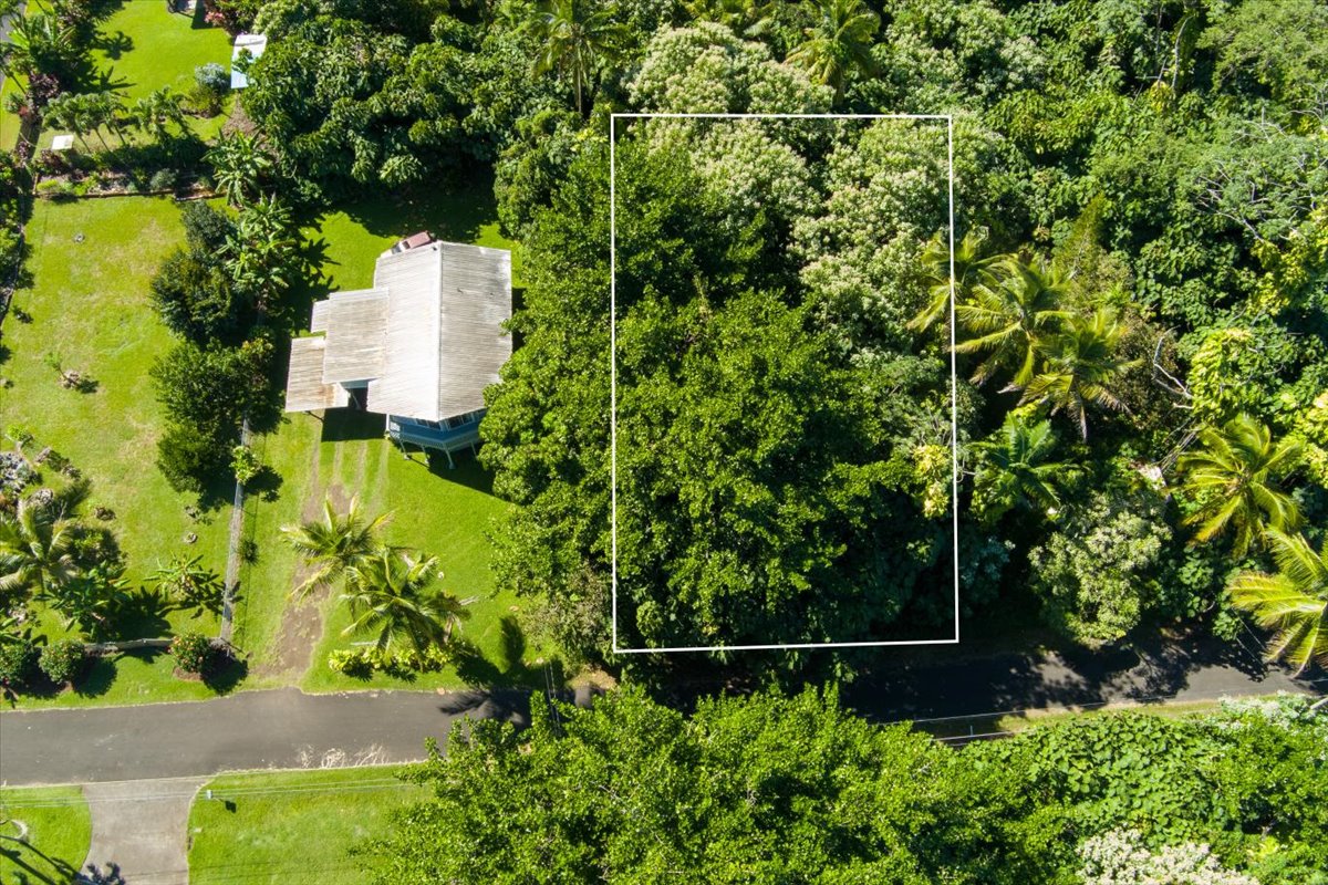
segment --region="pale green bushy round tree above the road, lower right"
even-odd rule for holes
[[[1045,617],[1090,645],[1122,638],[1158,597],[1170,539],[1162,502],[1151,491],[1094,494],[1028,555]]]

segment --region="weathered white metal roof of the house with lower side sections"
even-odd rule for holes
[[[373,288],[313,305],[321,336],[291,342],[287,411],[333,409],[367,387],[369,411],[445,421],[485,405],[511,356],[511,252],[429,243],[384,253]]]

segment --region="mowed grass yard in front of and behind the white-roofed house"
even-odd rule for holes
[[[324,273],[333,289],[363,288],[372,284],[377,256],[392,243],[418,230],[442,239],[513,248],[498,234],[493,188],[487,180],[430,198],[428,203],[397,202],[390,198],[361,202],[327,214],[313,239],[325,247]],[[349,689],[454,689],[466,685],[543,685],[543,665],[558,667],[556,653],[529,642],[517,625],[521,602],[498,588],[493,571],[490,533],[506,512],[506,503],[494,498],[491,476],[474,455],[453,455],[449,468],[442,455],[410,459],[384,438],[382,415],[333,413],[319,423],[313,415],[295,415],[304,433],[316,433],[320,451],[308,458],[317,464],[317,483],[308,484],[316,510],[329,491],[343,503],[359,495],[367,513],[392,512],[388,540],[438,557],[445,592],[469,601],[467,617],[456,636],[479,657],[469,657],[459,669],[421,673],[413,679],[376,674],[363,681],[333,673],[327,657],[336,649],[363,647],[373,637],[344,636],[351,618],[333,590],[323,602],[324,625],[313,650],[303,686],[313,691]],[[292,438],[301,431],[283,429]],[[356,645],[359,644],[359,645]]]

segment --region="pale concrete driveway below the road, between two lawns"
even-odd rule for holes
[[[203,778],[88,784],[88,860],[130,885],[189,885],[189,807]]]

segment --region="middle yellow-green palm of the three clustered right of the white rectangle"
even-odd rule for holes
[[[1068,280],[1040,260],[1025,264],[1007,256],[983,268],[972,296],[955,305],[959,326],[975,336],[955,350],[988,354],[973,370],[973,383],[985,383],[1011,366],[1017,369],[1007,390],[1019,390],[1033,378],[1037,345],[1068,318],[1060,308],[1066,289]]]

